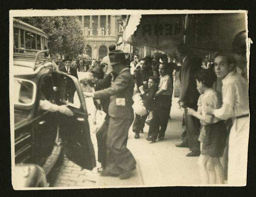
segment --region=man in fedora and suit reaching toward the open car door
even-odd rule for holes
[[[134,79],[128,68],[128,54],[121,50],[109,53],[110,63],[117,77],[111,87],[94,93],[84,92],[84,96],[100,99],[110,97],[108,113],[110,116],[107,136],[107,164],[101,176],[130,177],[136,169],[136,161],[126,148],[128,130],[134,119],[132,96]]]

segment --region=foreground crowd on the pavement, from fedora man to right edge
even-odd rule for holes
[[[168,62],[168,56],[156,52],[140,58],[111,46],[108,56],[89,69],[95,79],[94,90],[84,90],[84,97],[93,97],[96,110],[106,113],[96,132],[101,176],[125,179],[136,169],[134,156],[126,147],[132,125],[134,138],[140,138],[145,122],[149,122],[151,143],[162,141],[170,119],[174,70],[180,72],[179,104],[183,109],[182,142],[186,156],[200,156],[199,168],[204,184],[224,184],[225,170],[230,184],[244,184],[247,177],[249,138],[249,96],[246,45],[240,32],[233,42],[233,53],[215,52],[202,59],[189,55],[185,44],[176,48],[181,63]],[[110,69],[111,68],[111,69]],[[69,70],[67,70],[69,72]],[[213,84],[222,80],[219,93]],[[82,87],[88,79],[80,80]],[[96,112],[94,113],[96,114]],[[146,121],[147,120],[147,121]],[[93,122],[96,124],[95,115]],[[227,168],[221,164],[221,158]]]

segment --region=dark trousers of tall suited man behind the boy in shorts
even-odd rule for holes
[[[194,110],[197,110],[197,103],[189,103],[186,104],[186,107],[190,107]],[[191,116],[187,114],[187,110],[185,110],[185,124],[186,124],[186,134],[189,142],[189,150],[190,151],[200,151],[200,142],[198,141],[198,137],[200,134],[200,122],[195,116]]]

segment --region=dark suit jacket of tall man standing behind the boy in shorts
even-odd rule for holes
[[[185,104],[198,101],[199,93],[196,89],[195,74],[201,69],[201,60],[187,56],[180,69],[180,101]]]

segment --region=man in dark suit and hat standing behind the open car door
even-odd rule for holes
[[[71,66],[71,59],[68,56],[66,56],[64,58],[63,62],[64,62],[64,67],[62,67],[60,69],[60,71],[66,72],[67,74],[78,78],[76,69],[70,67]],[[68,80],[66,91],[65,91],[65,99],[68,100],[70,103],[73,103],[75,92],[76,92],[75,84],[73,83],[73,81]]]

